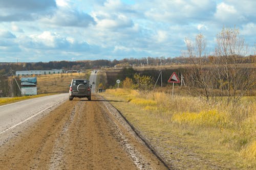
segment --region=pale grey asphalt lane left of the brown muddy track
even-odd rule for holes
[[[25,123],[30,118],[61,104],[69,94],[56,94],[0,106],[0,134]]]

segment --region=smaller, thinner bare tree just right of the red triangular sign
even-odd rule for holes
[[[203,94],[206,97],[206,100],[209,100],[209,80],[210,80],[210,69],[206,69],[205,65],[205,48],[206,48],[206,39],[202,34],[198,34],[196,36],[195,41],[191,41],[190,39],[185,39],[185,43],[187,46],[186,56],[189,57],[191,64],[193,67],[191,68],[191,72],[189,74],[189,78],[193,81],[193,85],[190,88],[193,88],[196,92]],[[203,93],[200,89],[203,89]]]

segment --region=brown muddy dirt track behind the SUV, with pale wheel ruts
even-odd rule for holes
[[[0,169],[167,169],[99,96],[67,101],[0,145]]]

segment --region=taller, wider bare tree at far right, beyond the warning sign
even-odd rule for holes
[[[216,66],[220,89],[226,91],[227,103],[233,99],[236,103],[253,82],[253,70],[250,65],[242,65],[247,53],[244,38],[239,29],[225,29],[217,35]],[[253,61],[252,61],[253,62]],[[238,90],[240,93],[238,94]],[[233,96],[233,98],[231,98]]]

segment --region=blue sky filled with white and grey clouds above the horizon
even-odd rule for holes
[[[255,0],[0,0],[0,62],[179,57],[203,34],[213,54],[238,28],[254,54]]]

